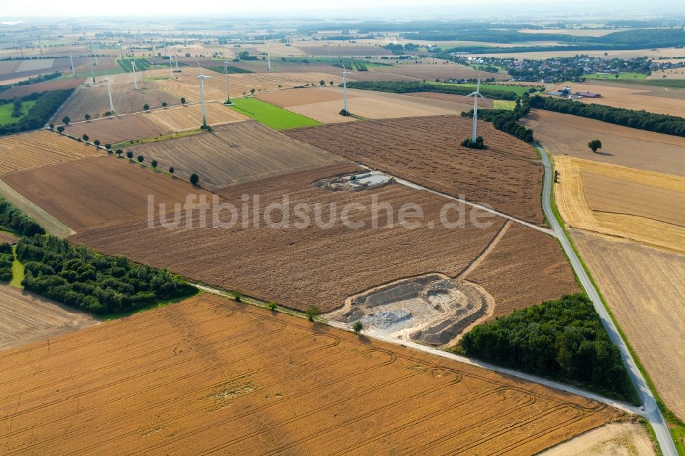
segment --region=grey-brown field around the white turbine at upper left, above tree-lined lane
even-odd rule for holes
[[[116,76],[123,77],[125,75]],[[142,77],[137,74],[136,76]],[[112,81],[112,101],[116,114],[140,112],[146,104],[150,107],[161,107],[163,101],[166,101],[170,106],[181,104],[179,97],[160,90],[152,82],[138,81],[138,90],[134,90],[133,79],[131,79],[130,84],[114,84]],[[95,119],[103,117],[103,114],[109,110],[110,99],[107,93],[107,83],[99,82],[95,86],[77,88],[52,117],[51,122],[55,125],[61,124],[64,116],[69,116],[72,121],[76,122],[82,120],[86,114],[90,114]]]

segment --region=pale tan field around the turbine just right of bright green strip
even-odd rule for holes
[[[354,118],[345,118],[339,114],[340,110],[343,109],[342,88],[324,88],[321,90],[337,93],[338,98],[331,101],[286,106],[286,109],[313,118],[321,123],[340,123],[355,120]],[[461,114],[463,110],[466,110],[466,105],[457,105],[443,100],[423,100],[405,94],[347,89],[347,110],[356,116],[377,120],[383,118]]]

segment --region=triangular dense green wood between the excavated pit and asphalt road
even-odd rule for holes
[[[583,294],[562,296],[466,333],[458,350],[468,356],[630,397],[619,349]]]

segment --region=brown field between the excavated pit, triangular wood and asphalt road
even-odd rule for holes
[[[534,249],[535,255],[530,255]],[[580,292],[556,239],[511,223],[478,264],[462,276],[482,286],[495,299],[492,318],[516,309]]]

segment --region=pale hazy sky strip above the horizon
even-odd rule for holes
[[[648,12],[684,11],[685,2],[680,0],[201,0],[195,2],[176,2],[161,0],[2,0],[0,21],[16,17],[37,16],[152,16],[160,14],[173,16],[340,16],[347,13],[353,16],[421,16],[444,17],[445,14],[479,14],[483,16],[502,16],[504,14],[590,15],[600,11],[625,12],[631,16],[636,9]],[[344,9],[343,9],[344,8]]]

